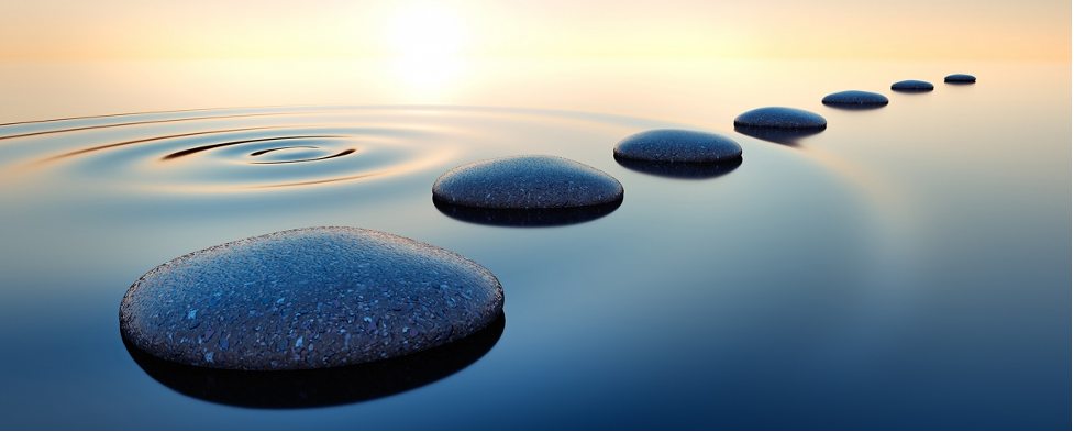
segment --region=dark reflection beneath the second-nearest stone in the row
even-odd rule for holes
[[[573,225],[604,218],[616,211],[622,199],[606,204],[560,209],[487,209],[455,206],[433,198],[433,206],[444,215],[481,225],[540,228]]]

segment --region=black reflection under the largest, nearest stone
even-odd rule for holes
[[[230,370],[157,358],[125,337],[146,374],[182,395],[248,408],[313,408],[361,402],[446,378],[485,356],[503,334],[503,314],[465,339],[402,357],[307,370]]]

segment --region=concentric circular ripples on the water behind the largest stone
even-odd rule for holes
[[[449,129],[400,110],[284,107],[69,118],[0,125],[22,168],[171,190],[234,190],[405,174],[450,156]],[[441,144],[441,145],[431,145]],[[10,162],[10,160],[9,160]]]

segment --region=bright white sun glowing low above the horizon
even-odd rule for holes
[[[397,54],[412,59],[443,59],[458,54],[463,27],[438,3],[416,3],[400,11],[389,27]]]

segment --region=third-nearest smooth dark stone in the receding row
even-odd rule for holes
[[[742,156],[734,140],[708,132],[657,129],[616,144],[614,156],[650,162],[716,163]]]

